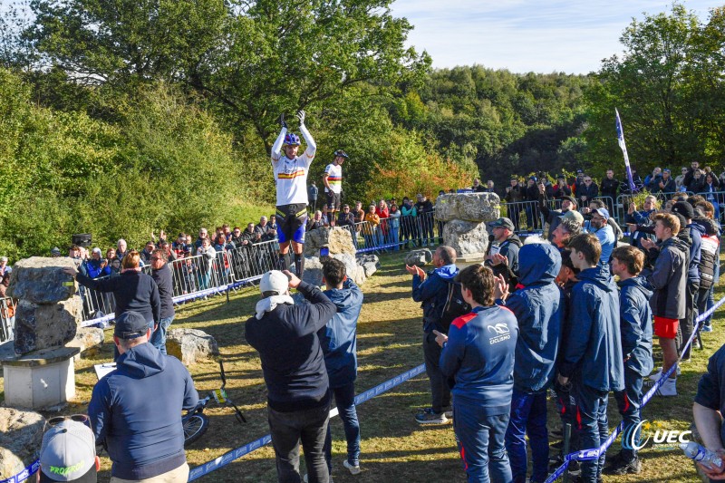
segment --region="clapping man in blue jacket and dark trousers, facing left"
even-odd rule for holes
[[[435,268],[428,274],[419,266],[405,266],[408,273],[413,275],[413,300],[420,302],[423,308],[423,356],[425,372],[430,380],[431,406],[415,416],[420,424],[448,422],[446,412],[450,411],[450,388],[440,373],[440,347],[433,331],[446,332],[440,326],[440,317],[448,297],[448,286],[459,273],[456,250],[450,246],[439,246],[433,253],[433,266]]]

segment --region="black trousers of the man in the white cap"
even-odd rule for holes
[[[330,474],[324,462],[324,435],[330,407],[292,412],[267,407],[272,447],[275,449],[277,480],[300,483],[300,441],[310,483],[327,483]]]

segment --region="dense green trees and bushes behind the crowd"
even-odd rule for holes
[[[0,252],[247,221],[274,203],[269,147],[298,109],[318,145],[311,180],[334,150],[351,155],[349,202],[601,175],[622,165],[614,107],[641,172],[725,153],[723,8],[704,24],[677,4],[645,15],[622,56],[570,75],[431,70],[390,5],[16,0],[0,17]]]

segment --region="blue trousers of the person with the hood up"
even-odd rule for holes
[[[527,434],[534,467],[531,481],[545,481],[549,464],[546,391],[529,394],[515,388],[506,430],[506,450],[514,481],[524,481],[527,478]]]

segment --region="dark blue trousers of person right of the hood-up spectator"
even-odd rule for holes
[[[581,381],[572,382],[572,396],[576,404],[576,432],[579,449],[594,449],[609,436],[606,420],[607,391],[597,391]],[[581,421],[581,422],[578,422]],[[582,481],[596,483],[604,469],[604,453],[599,459],[582,461]]]

